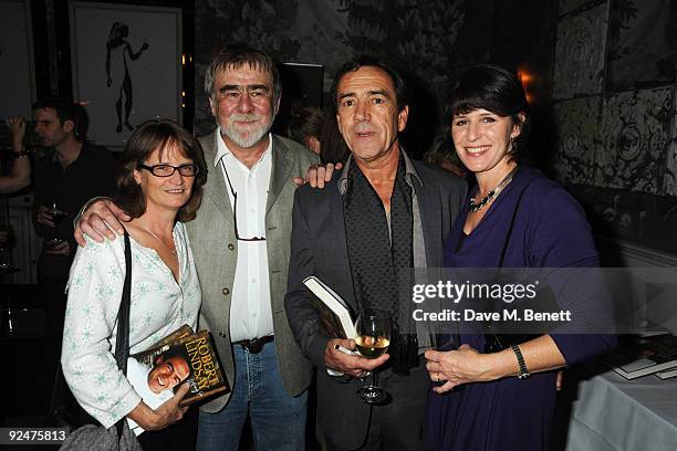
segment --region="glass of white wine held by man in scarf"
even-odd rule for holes
[[[355,323],[357,352],[365,358],[378,358],[390,344],[390,316],[386,312],[365,311]],[[366,403],[378,403],[387,398],[387,392],[378,387],[377,369],[372,371],[372,384],[357,390]]]

